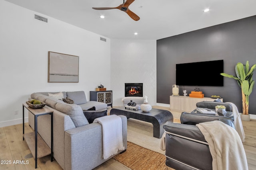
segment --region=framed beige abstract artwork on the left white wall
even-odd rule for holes
[[[79,56],[48,52],[48,82],[78,82]]]

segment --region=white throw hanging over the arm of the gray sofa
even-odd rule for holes
[[[102,125],[103,158],[117,154],[118,150],[124,150],[122,118],[117,115],[98,117],[93,122]]]

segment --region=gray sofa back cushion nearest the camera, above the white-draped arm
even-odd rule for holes
[[[65,113],[66,115],[69,115],[76,127],[89,124],[86,117],[84,116],[82,108],[76,104],[66,104],[64,102],[58,102],[55,105],[55,109],[62,113]]]

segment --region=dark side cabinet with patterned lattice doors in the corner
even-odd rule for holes
[[[112,107],[112,90],[107,91],[90,91],[90,100],[106,103]]]

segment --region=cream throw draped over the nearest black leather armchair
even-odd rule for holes
[[[196,126],[209,144],[213,170],[248,170],[244,147],[235,129],[221,121]]]

